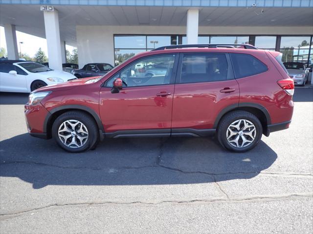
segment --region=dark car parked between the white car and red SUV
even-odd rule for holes
[[[113,66],[109,63],[88,63],[82,69],[72,71],[77,78],[96,77],[105,75]]]

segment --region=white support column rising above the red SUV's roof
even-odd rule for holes
[[[187,44],[198,44],[199,10],[187,11]]]

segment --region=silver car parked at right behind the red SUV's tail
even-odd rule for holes
[[[304,86],[309,79],[309,69],[306,69],[302,62],[284,62],[290,78],[293,79],[294,84]]]

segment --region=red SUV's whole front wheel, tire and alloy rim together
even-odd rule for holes
[[[79,153],[95,147],[99,137],[98,127],[88,114],[69,111],[54,121],[52,137],[66,151]]]

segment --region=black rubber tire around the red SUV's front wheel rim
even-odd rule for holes
[[[82,146],[77,148],[70,148],[61,141],[59,137],[59,128],[61,127],[61,124],[63,124],[67,120],[80,121],[87,128],[88,138]],[[52,125],[52,137],[62,149],[71,153],[80,153],[89,149],[94,149],[96,147],[99,139],[99,129],[94,119],[88,114],[81,111],[69,111],[57,117],[57,119],[54,121]]]

